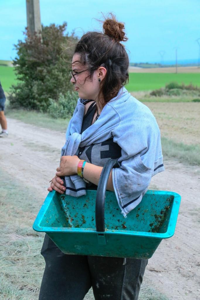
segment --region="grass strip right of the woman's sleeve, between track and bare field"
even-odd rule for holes
[[[200,146],[176,143],[165,137],[161,139],[163,156],[176,158],[181,163],[200,166]]]

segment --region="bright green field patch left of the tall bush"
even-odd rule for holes
[[[13,67],[0,66],[0,81],[2,88],[8,92],[11,85],[16,82],[16,76]]]

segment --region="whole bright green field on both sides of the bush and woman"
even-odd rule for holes
[[[4,91],[16,81],[13,67],[0,66],[0,81]],[[128,91],[149,91],[164,87],[169,82],[200,86],[200,73],[129,73]]]

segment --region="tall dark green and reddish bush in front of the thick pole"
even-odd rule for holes
[[[64,35],[66,23],[42,26],[41,35],[31,36],[25,31],[25,41],[15,45],[17,55],[13,60],[18,82],[11,88],[10,106],[46,112],[49,98],[58,101],[60,94],[72,91],[69,63],[72,55],[61,57],[62,44],[75,42],[73,34]],[[42,37],[42,39],[41,39]]]

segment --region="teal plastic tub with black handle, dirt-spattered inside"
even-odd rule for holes
[[[86,196],[49,192],[33,229],[46,232],[66,254],[150,258],[161,240],[174,234],[181,196],[148,190],[125,218],[115,193],[106,191],[105,197],[108,176],[103,172],[98,190],[87,190]]]

